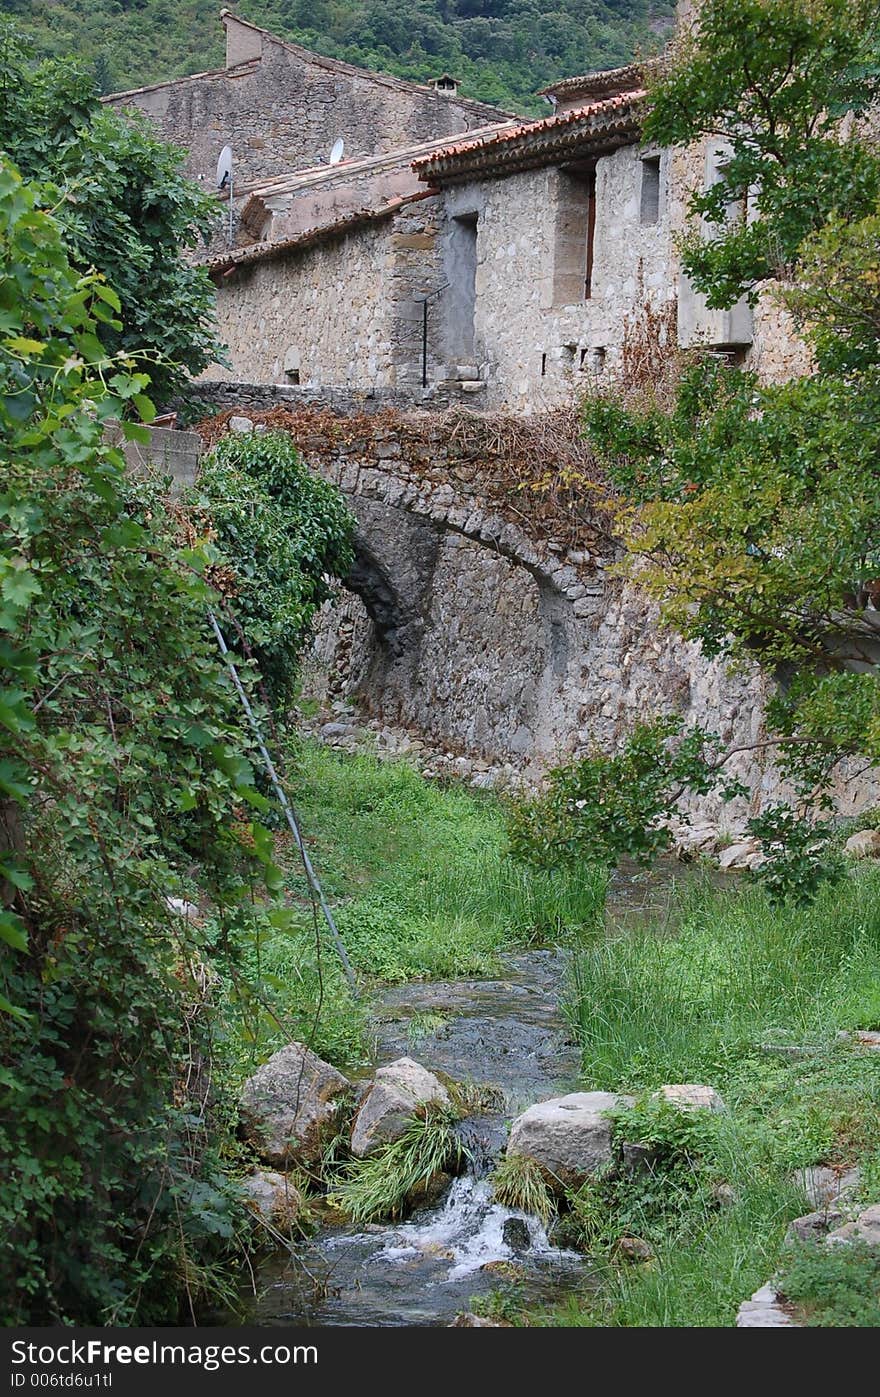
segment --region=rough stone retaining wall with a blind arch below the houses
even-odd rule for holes
[[[490,503],[487,468],[457,446],[454,418],[335,420],[303,414],[293,429],[359,521],[351,591],[324,609],[310,693],[342,668],[346,693],[383,722],[534,780],[594,745],[612,749],[652,712],[680,712],[731,745],[760,739],[765,679],[729,675],[661,630],[606,548],[566,553]],[[721,812],[733,828],[781,785],[764,752],[732,770],[751,789]],[[845,799],[855,807],[869,793],[862,784]],[[719,814],[717,802],[698,806]]]

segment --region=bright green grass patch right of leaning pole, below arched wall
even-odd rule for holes
[[[388,981],[481,975],[497,951],[595,935],[606,875],[507,856],[493,799],[429,785],[404,761],[303,745],[295,795],[316,831],[353,964]],[[296,865],[291,883],[300,894]]]

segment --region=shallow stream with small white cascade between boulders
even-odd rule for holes
[[[622,925],[662,911],[672,877],[619,876],[609,916]],[[271,1257],[260,1267],[250,1323],[448,1326],[506,1281],[525,1303],[591,1284],[587,1257],[555,1248],[536,1218],[494,1203],[487,1182],[510,1120],[582,1085],[560,1004],[567,951],[500,960],[496,979],[394,985],[374,1009],[379,1065],[406,1055],[457,1081],[496,1088],[497,1105],[461,1123],[467,1172],[405,1222],[324,1227],[296,1255]]]

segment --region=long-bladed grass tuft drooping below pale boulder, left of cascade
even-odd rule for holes
[[[393,1144],[352,1160],[334,1186],[330,1201],[355,1224],[399,1217],[413,1193],[426,1189],[439,1173],[461,1168],[464,1151],[455,1136],[457,1116],[429,1109]]]

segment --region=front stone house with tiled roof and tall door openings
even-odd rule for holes
[[[613,373],[640,335],[802,372],[768,298],[708,310],[682,274],[689,194],[725,152],[645,145],[643,77],[569,78],[543,120],[253,184],[239,246],[208,258],[230,352],[208,377],[524,414]]]

